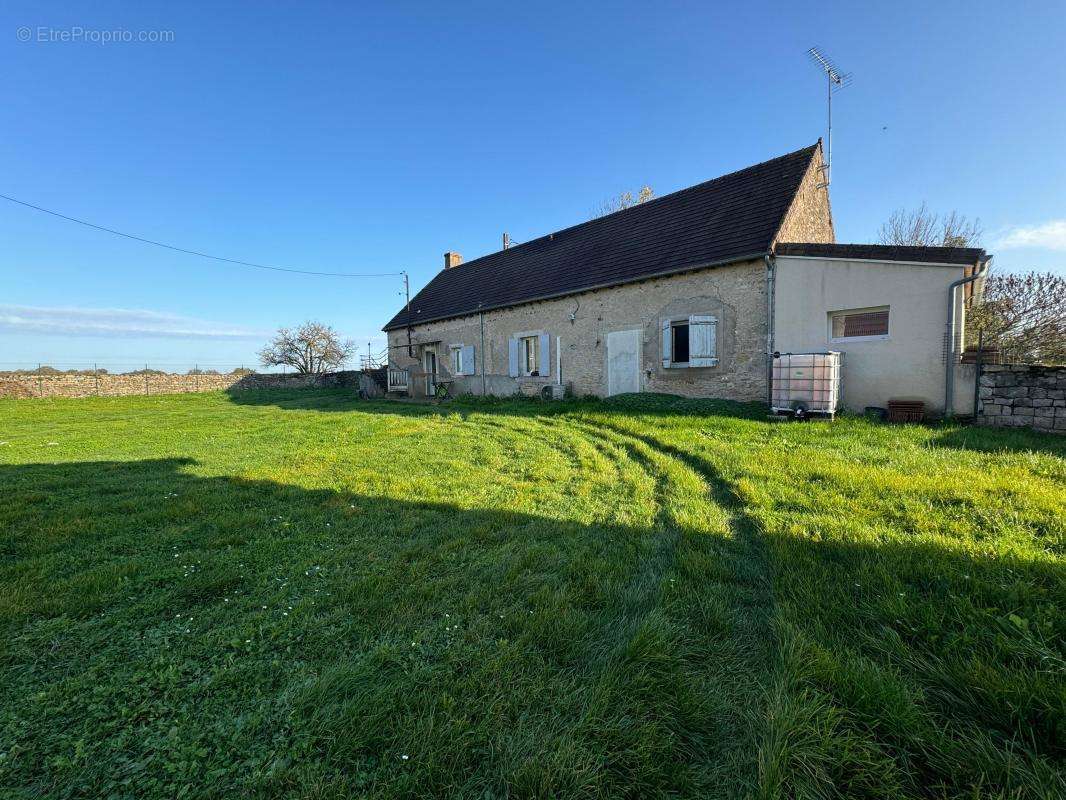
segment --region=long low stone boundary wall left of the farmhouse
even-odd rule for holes
[[[253,389],[308,389],[348,387],[371,397],[383,395],[369,375],[354,370],[321,374],[7,374],[0,375],[0,398],[29,397],[125,397],[129,395],[176,395],[189,391],[243,391]]]

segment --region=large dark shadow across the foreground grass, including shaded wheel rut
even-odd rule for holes
[[[188,459],[0,466],[0,781],[140,797],[1059,785],[1060,565],[761,534],[712,464],[618,432],[702,476],[733,535],[206,477]],[[759,640],[771,618],[776,645]]]

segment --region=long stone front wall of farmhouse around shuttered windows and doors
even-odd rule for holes
[[[662,366],[661,320],[689,314],[717,317],[717,366]],[[484,329],[485,383],[490,395],[538,393],[540,386],[556,381],[556,364],[562,367],[562,382],[576,395],[604,395],[607,335],[631,330],[642,332],[644,391],[736,400],[766,395],[766,276],[761,259],[486,311]],[[551,374],[511,378],[507,341],[530,332],[549,335],[547,364]],[[424,394],[426,349],[436,352],[441,379],[454,377],[449,355],[454,345],[474,347],[477,374],[459,378],[453,390],[481,394],[482,330],[478,315],[417,325],[410,355],[406,336],[406,330],[389,332],[389,357],[394,366],[411,370],[413,394]],[[562,357],[556,362],[560,346]]]

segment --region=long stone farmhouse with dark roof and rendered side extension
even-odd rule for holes
[[[846,407],[966,413],[965,299],[988,260],[837,244],[819,141],[471,261],[446,253],[385,325],[389,388],[764,400],[773,353],[831,350]]]

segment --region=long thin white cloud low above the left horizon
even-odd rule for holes
[[[0,331],[58,336],[259,339],[264,332],[195,317],[135,308],[0,305]]]

